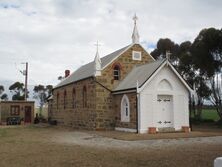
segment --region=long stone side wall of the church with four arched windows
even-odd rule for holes
[[[83,87],[87,90],[87,106],[83,107]],[[57,120],[58,124],[72,126],[79,129],[96,128],[96,103],[95,82],[88,78],[53,91],[53,109],[51,119]],[[75,88],[76,101],[73,107],[73,88]],[[64,91],[66,90],[66,107],[64,108]],[[59,102],[57,107],[57,93]]]

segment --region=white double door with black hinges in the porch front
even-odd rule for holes
[[[171,95],[157,96],[158,118],[157,124],[159,127],[173,126],[173,98]]]

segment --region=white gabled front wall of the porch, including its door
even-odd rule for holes
[[[189,126],[189,90],[170,66],[165,64],[144,84],[139,93],[139,132],[149,127]]]

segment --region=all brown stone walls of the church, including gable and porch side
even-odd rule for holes
[[[132,59],[132,51],[141,51],[142,60]],[[131,104],[131,122],[121,123],[119,104],[121,95],[113,95],[112,90],[122,81],[135,65],[152,62],[151,56],[138,44],[135,44],[114,62],[109,64],[102,75],[88,78],[76,83],[63,86],[53,91],[53,105],[51,118],[58,124],[72,126],[79,129],[105,130],[114,129],[116,126],[136,128],[136,95],[129,94]],[[120,80],[114,80],[113,67],[121,67]],[[87,107],[83,107],[83,86],[87,89]],[[76,91],[76,107],[73,108],[72,92]],[[66,90],[66,107],[64,108],[64,91]],[[57,106],[57,94],[59,101]]]

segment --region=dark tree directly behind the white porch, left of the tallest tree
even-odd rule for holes
[[[163,58],[167,51],[171,52],[170,62],[183,76],[187,83],[192,87],[195,85],[197,93],[197,112],[195,110],[195,101],[193,102],[194,116],[196,119],[201,119],[202,106],[204,99],[210,95],[210,90],[204,82],[205,76],[199,75],[198,69],[194,65],[193,54],[191,52],[192,43],[190,41],[182,42],[180,45],[172,40],[165,38],[157,42],[157,48],[151,52],[155,58]],[[191,100],[191,99],[190,99]]]

